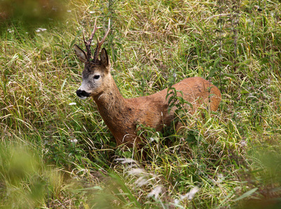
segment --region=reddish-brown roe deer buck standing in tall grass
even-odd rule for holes
[[[86,52],[74,45],[79,60],[85,63],[82,73],[83,81],[76,93],[81,99],[92,97],[95,100],[99,114],[115,137],[118,146],[127,144],[132,147],[141,141],[136,134],[137,124],[161,131],[165,125],[170,125],[175,119],[176,108],[172,107],[168,111],[167,89],[140,98],[123,98],[111,76],[111,63],[106,49],[102,49],[100,59],[98,59],[102,44],[109,34],[110,20],[106,34],[101,42],[97,41],[95,54],[92,56],[90,45],[97,29],[99,28],[95,20],[93,33],[88,42],[83,34]],[[201,77],[183,79],[172,88],[182,91],[184,100],[192,104],[192,108],[188,108],[191,113],[202,104],[207,105],[207,108],[212,111],[218,109],[221,100],[220,91],[211,82]]]

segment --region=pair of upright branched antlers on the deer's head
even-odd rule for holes
[[[104,38],[102,38],[102,41],[99,42],[99,38],[97,38],[97,47],[95,48],[95,54],[94,54],[94,59],[93,59],[93,62],[96,63],[97,62],[97,56],[99,55],[99,50],[100,48],[102,47],[102,44],[104,43],[104,40],[106,38],[107,35],[109,35],[109,31],[110,31],[110,19],[109,19],[109,27],[104,35]],[[84,44],[86,46],[86,50],[87,50],[87,61],[89,62],[90,61],[90,57],[92,56],[92,52],[91,52],[91,49],[90,49],[90,45],[91,45],[91,42],[93,40],[93,36],[95,35],[95,32],[97,31],[97,29],[101,29],[102,27],[97,27],[97,18],[95,19],[95,26],[94,26],[94,29],[93,29],[93,32],[92,34],[90,35],[90,38],[88,40],[88,42],[86,42],[85,40],[85,33],[83,31],[83,41],[84,41]]]

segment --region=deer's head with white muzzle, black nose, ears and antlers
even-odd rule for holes
[[[78,59],[85,64],[84,70],[82,72],[82,84],[76,91],[77,96],[84,100],[90,96],[99,95],[106,89],[106,84],[109,83],[111,79],[111,64],[109,62],[109,56],[107,55],[106,49],[102,49],[100,54],[100,59],[98,59],[99,51],[104,43],[106,36],[109,34],[110,30],[110,20],[109,27],[102,38],[102,41],[97,40],[97,47],[95,48],[94,56],[92,56],[92,51],[90,49],[93,36],[97,29],[97,19],[95,20],[95,26],[93,32],[88,41],[85,40],[85,35],[83,33],[83,42],[86,46],[86,52],[83,51],[79,46],[74,45],[74,51],[78,56]]]

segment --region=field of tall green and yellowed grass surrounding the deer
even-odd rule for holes
[[[281,3],[67,1],[62,19],[1,24],[0,208],[280,208]],[[0,10],[1,12],[1,10]],[[1,13],[0,13],[1,17]],[[186,77],[220,88],[184,128],[140,127],[147,158],[116,147],[79,100],[82,31],[102,38],[125,98]]]

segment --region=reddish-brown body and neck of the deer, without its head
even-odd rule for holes
[[[175,108],[168,113],[167,89],[145,97],[125,99],[112,78],[111,82],[111,88],[106,88],[102,95],[93,96],[93,99],[118,145],[132,146],[140,141],[136,135],[137,124],[161,131],[163,125],[170,125],[175,118]],[[172,87],[184,93],[184,100],[193,104],[193,111],[203,103],[212,111],[218,109],[220,91],[201,77],[184,79]]]

